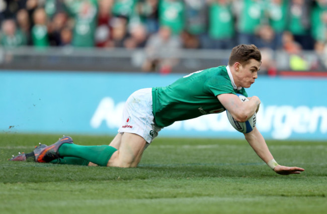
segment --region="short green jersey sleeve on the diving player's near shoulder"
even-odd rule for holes
[[[221,76],[216,76],[216,77],[212,77],[212,78],[208,79],[205,82],[204,88],[206,88],[208,91],[210,91],[215,96],[222,94],[222,93],[235,94],[230,80],[228,81]]]

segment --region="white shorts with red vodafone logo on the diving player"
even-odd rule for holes
[[[144,88],[132,93],[124,106],[123,120],[118,130],[119,133],[134,133],[147,143],[158,135],[161,130],[154,123],[152,113],[152,88]]]

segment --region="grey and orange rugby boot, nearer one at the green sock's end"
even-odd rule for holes
[[[60,138],[54,144],[52,144],[50,146],[47,146],[44,149],[42,149],[42,151],[40,151],[40,153],[38,154],[35,161],[40,162],[40,163],[48,163],[48,162],[51,162],[51,161],[53,161],[55,159],[60,158],[60,154],[58,152],[58,149],[64,143],[72,144],[73,141],[72,141],[71,137],[63,136],[62,138]]]

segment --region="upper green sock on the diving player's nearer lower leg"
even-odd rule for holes
[[[99,166],[107,166],[112,154],[116,152],[112,146],[80,146],[76,144],[62,144],[58,150],[62,157],[83,158]]]

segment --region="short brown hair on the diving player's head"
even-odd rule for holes
[[[228,65],[232,66],[235,62],[242,65],[249,63],[250,59],[255,59],[261,62],[260,50],[255,45],[237,45],[231,50]]]

